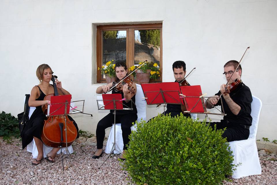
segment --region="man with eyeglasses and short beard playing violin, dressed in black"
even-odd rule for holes
[[[233,75],[229,84],[236,79],[239,81],[241,80],[241,65],[239,65],[235,71],[238,64],[239,62],[236,60],[230,60],[224,65],[223,75],[226,77],[227,82]],[[226,89],[226,85],[222,84],[220,86],[220,91],[214,96],[209,97],[205,102],[206,108],[210,109],[213,108],[213,106],[221,106],[222,100],[222,105],[226,114],[226,116],[223,117],[223,120],[220,120],[220,122],[212,122],[210,123],[210,126],[214,128],[216,125],[216,128],[214,129],[226,128],[222,137],[227,138],[228,142],[248,139],[249,127],[252,124],[252,117],[250,115],[252,102],[251,91],[242,82],[238,84],[237,88],[230,90],[230,93],[226,93]],[[219,98],[220,94],[222,94],[221,100]]]

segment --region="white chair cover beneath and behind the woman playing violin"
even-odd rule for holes
[[[144,120],[146,121],[146,102],[144,99],[144,93],[141,88],[141,85],[136,84],[136,109],[138,110],[138,119],[137,121]],[[98,99],[102,99],[102,96]],[[131,130],[136,130],[136,123],[131,127]],[[115,149],[117,151],[123,151],[123,139],[122,139],[122,130],[121,130],[121,123],[116,124],[115,126],[115,143],[116,147]],[[105,153],[111,153],[111,150],[113,148],[113,142],[114,142],[114,125],[111,127],[111,131],[108,137]],[[119,153],[117,151],[114,151],[114,153]]]

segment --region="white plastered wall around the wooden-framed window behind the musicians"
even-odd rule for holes
[[[85,99],[75,115],[95,134],[106,114],[96,108],[96,25],[162,22],[163,82],[174,80],[172,63],[184,60],[187,80],[214,95],[225,82],[223,65],[242,60],[242,80],[263,102],[257,138],[277,139],[276,1],[0,1],[0,111],[17,115],[23,96],[38,84],[35,70],[49,64],[73,100]],[[147,108],[147,118],[162,112]],[[204,115],[200,115],[204,118]],[[213,116],[215,120],[220,116]]]

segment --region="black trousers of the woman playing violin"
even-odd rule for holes
[[[97,140],[97,149],[102,149],[103,148],[103,142],[104,142],[104,137],[105,137],[105,129],[108,127],[111,127],[114,123],[121,123],[121,130],[122,130],[122,138],[123,138],[123,150],[126,150],[126,144],[130,141],[128,136],[131,134],[131,127],[132,123],[135,122],[138,119],[137,114],[114,114],[109,113],[106,115],[104,118],[102,118],[96,128],[96,140]]]

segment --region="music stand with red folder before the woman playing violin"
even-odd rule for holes
[[[132,100],[126,100],[126,99],[122,99],[121,94],[102,94],[102,98],[103,100],[97,100],[97,106],[98,106],[98,110],[113,110],[113,114],[114,114],[114,143],[113,143],[113,147],[111,149],[110,155],[106,158],[106,160],[112,155],[112,153],[114,153],[114,151],[117,151],[119,153],[122,154],[121,151],[118,151],[116,149],[119,149],[118,145],[115,143],[115,113],[116,110],[133,110],[133,101]],[[101,104],[101,101],[103,101],[103,105]],[[123,101],[131,101],[131,107],[126,106]],[[126,106],[127,108],[123,108],[123,105]],[[104,107],[104,109],[103,109]],[[120,150],[120,149],[119,149]],[[106,160],[101,164],[101,166],[106,162]],[[100,167],[101,167],[100,166]],[[100,169],[100,167],[98,169]]]

